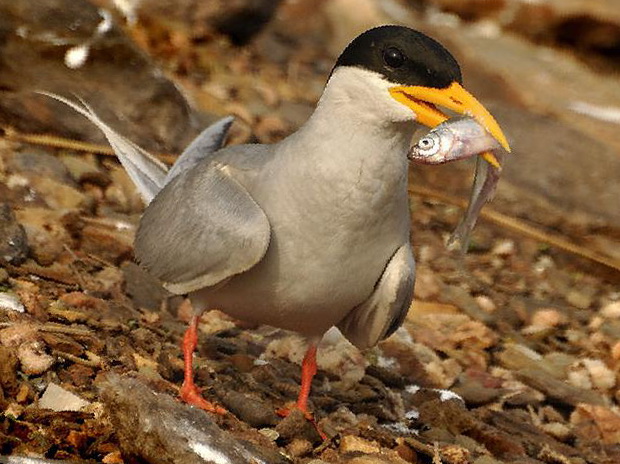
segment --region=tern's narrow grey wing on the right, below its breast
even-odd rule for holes
[[[340,331],[360,349],[392,335],[409,311],[414,279],[415,262],[407,243],[390,258],[372,295],[338,324]]]

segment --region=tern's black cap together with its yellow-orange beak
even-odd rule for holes
[[[461,68],[439,42],[402,26],[380,26],[355,38],[342,52],[332,73],[339,67],[360,68],[379,74],[390,85],[388,92],[428,127],[448,119],[437,106],[470,116],[484,126],[510,151],[499,124],[462,86]],[[490,153],[484,157],[499,163]]]

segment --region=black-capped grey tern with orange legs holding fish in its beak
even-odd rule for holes
[[[205,310],[306,338],[294,407],[311,418],[322,336],[335,326],[358,348],[371,347],[403,323],[412,302],[407,153],[416,127],[434,127],[450,110],[475,119],[510,150],[497,121],[463,87],[452,54],[405,26],[354,38],[312,115],[287,137],[223,147],[232,123],[224,118],[170,169],[85,102],[48,95],[104,132],[142,194],[135,257],[192,303],[180,396],[211,412],[223,408],[202,396],[192,364]]]

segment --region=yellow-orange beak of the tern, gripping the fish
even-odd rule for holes
[[[399,103],[411,108],[417,115],[416,120],[428,127],[435,127],[448,119],[448,116],[437,109],[435,105],[470,116],[489,131],[507,152],[510,152],[508,140],[506,140],[506,136],[495,118],[458,82],[453,82],[444,89],[423,86],[396,86],[390,89],[390,95]],[[484,152],[481,156],[492,166],[500,168],[500,164],[493,153]]]

